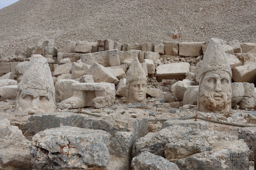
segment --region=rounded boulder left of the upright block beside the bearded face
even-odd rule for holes
[[[177,81],[174,83],[171,87],[171,91],[179,99],[179,101],[182,101],[187,88],[193,85],[195,85],[195,82],[189,79],[183,79],[182,81]]]

